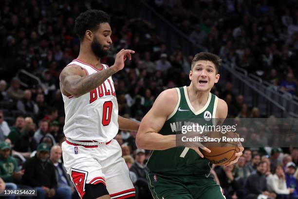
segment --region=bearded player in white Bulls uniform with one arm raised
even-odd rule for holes
[[[112,44],[109,21],[109,15],[100,10],[76,18],[80,53],[60,74],[65,107],[63,160],[83,199],[135,197],[121,148],[113,138],[118,128],[137,131],[139,124],[118,116],[111,77],[134,51],[122,49],[110,67],[100,63]]]

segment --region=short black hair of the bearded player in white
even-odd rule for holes
[[[87,10],[75,19],[75,34],[83,40],[86,31],[97,30],[100,23],[110,23],[110,16],[102,10]]]

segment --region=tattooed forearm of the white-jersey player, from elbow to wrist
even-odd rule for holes
[[[82,96],[97,88],[114,73],[116,73],[116,71],[111,66],[92,75],[85,76],[74,81],[66,81],[65,90],[75,97]]]

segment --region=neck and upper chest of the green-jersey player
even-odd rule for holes
[[[187,86],[187,95],[193,107],[205,106],[210,91],[196,91],[192,85]]]

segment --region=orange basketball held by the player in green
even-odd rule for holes
[[[236,153],[240,151],[238,144],[238,135],[234,132],[209,132],[205,135],[209,140],[202,144],[211,150],[210,153],[202,150],[204,158],[215,165],[227,165],[237,157]],[[213,141],[216,140],[216,141]]]

